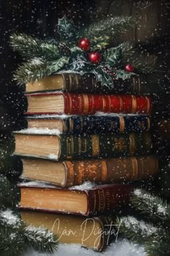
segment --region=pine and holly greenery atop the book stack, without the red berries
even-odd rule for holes
[[[117,35],[133,27],[131,17],[107,17],[91,23],[89,26],[76,27],[66,16],[58,20],[58,41],[40,40],[25,34],[11,36],[12,48],[18,51],[24,62],[19,65],[14,79],[19,85],[25,82],[35,82],[59,71],[93,72],[100,82],[109,90],[114,88],[111,74],[104,71],[104,67],[112,70],[117,67],[115,79],[130,79],[135,75],[149,82],[151,92],[160,89],[161,77],[164,73],[160,67],[156,68],[156,61],[146,64],[146,52],[140,50],[140,45],[125,42],[116,45]],[[91,49],[82,51],[77,47],[80,38],[89,38]],[[113,41],[115,46],[112,46]],[[112,43],[111,43],[112,42]],[[111,44],[110,44],[111,43]],[[99,51],[102,61],[93,64],[89,60],[90,51]],[[144,57],[143,57],[144,56]],[[133,64],[134,72],[125,72],[125,64]]]

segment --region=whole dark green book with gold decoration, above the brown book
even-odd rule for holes
[[[53,130],[52,130],[53,131]],[[27,129],[14,132],[15,155],[50,158],[57,161],[85,158],[109,158],[151,152],[148,132],[122,135],[57,135],[55,132]],[[44,133],[44,134],[42,134]]]

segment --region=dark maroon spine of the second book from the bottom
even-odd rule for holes
[[[89,190],[87,215],[109,213],[115,209],[123,208],[128,205],[132,190],[132,186],[125,184]]]

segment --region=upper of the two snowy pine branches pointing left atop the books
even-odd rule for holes
[[[52,61],[60,57],[58,46],[31,35],[13,34],[11,36],[11,45],[14,51],[18,51],[26,59],[42,58],[46,61]]]

